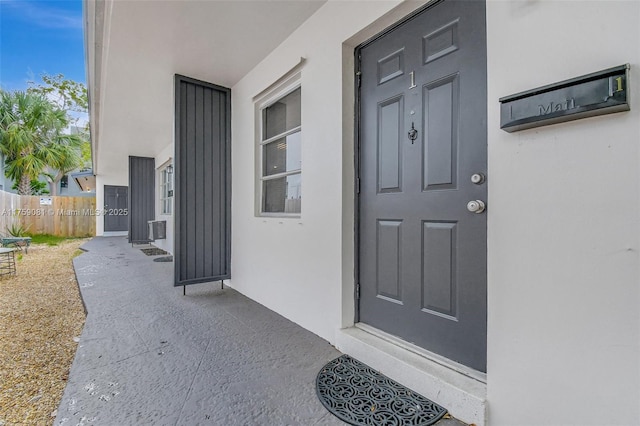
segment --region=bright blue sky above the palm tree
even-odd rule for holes
[[[0,87],[24,90],[43,73],[86,83],[82,0],[0,0]]]

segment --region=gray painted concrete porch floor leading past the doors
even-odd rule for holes
[[[328,342],[220,283],[183,296],[173,263],[123,237],[83,249],[88,315],[55,425],[344,424],[315,391]]]

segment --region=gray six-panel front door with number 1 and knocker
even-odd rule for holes
[[[467,204],[487,195],[485,34],[484,1],[445,0],[356,51],[359,321],[479,371],[486,214]]]

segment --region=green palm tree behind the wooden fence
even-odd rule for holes
[[[19,194],[29,195],[31,180],[47,167],[66,170],[78,157],[73,152],[82,140],[63,133],[68,124],[67,112],[40,94],[0,91],[0,151],[6,176],[18,182]]]

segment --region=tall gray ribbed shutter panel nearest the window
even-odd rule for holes
[[[231,91],[176,75],[175,285],[231,277]]]

